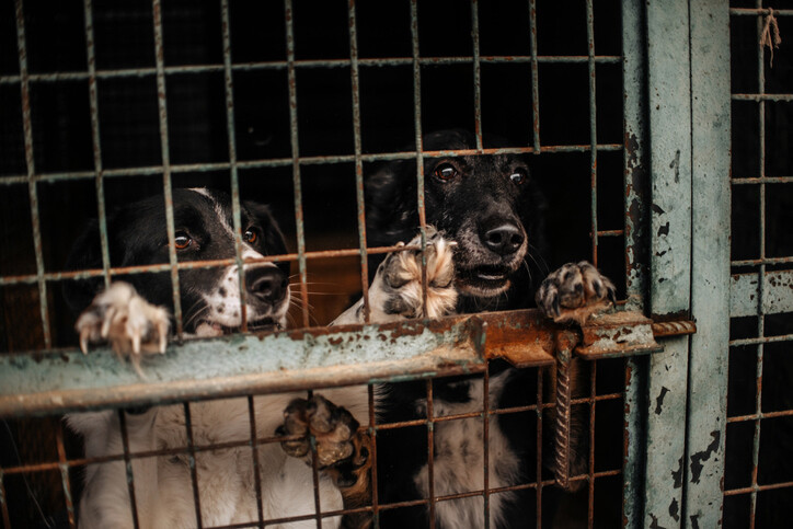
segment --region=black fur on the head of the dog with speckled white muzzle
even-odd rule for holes
[[[203,193],[211,196],[208,197]],[[216,208],[217,205],[217,208]],[[251,244],[263,255],[286,253],[284,235],[266,206],[245,202],[241,205],[243,233],[251,229],[256,240]],[[231,234],[218,218],[219,212],[228,226],[233,226],[231,198],[215,192],[173,189],[173,220],[176,235],[186,234],[192,243],[177,250],[180,262],[229,258],[234,256]],[[107,243],[111,266],[136,266],[169,263],[168,233],[165,230],[165,203],[162,196],[154,196],[122,206],[107,215]],[[289,263],[277,263],[279,283],[289,276]],[[99,222],[89,223],[76,241],[67,269],[92,269],[102,267]],[[193,314],[204,309],[203,292],[218,284],[226,267],[206,269],[183,269],[179,273],[181,303],[185,331],[192,332],[198,323]],[[251,292],[253,279],[246,271],[246,288]],[[150,303],[166,307],[173,312],[171,274],[147,273],[115,276],[113,280],[125,280]],[[74,313],[85,309],[93,297],[104,287],[101,278],[65,281],[64,296]],[[250,296],[249,303],[266,303],[261,297]],[[251,322],[252,324],[255,322]]]

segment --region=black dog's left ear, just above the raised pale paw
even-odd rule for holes
[[[366,233],[370,246],[407,242],[418,227],[416,162],[387,163],[365,181]]]

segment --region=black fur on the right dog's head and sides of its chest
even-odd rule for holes
[[[443,130],[427,135],[424,151],[474,149],[474,136],[464,130]],[[451,177],[443,170],[452,168]],[[438,172],[440,168],[440,172]],[[526,177],[516,183],[516,171]],[[462,296],[459,312],[504,310],[533,306],[535,291],[548,274],[544,218],[547,206],[537,181],[524,157],[512,154],[424,158],[424,200],[426,221],[457,241],[455,265],[457,286]],[[366,180],[367,237],[369,245],[391,245],[409,241],[417,231],[415,160],[391,162]],[[527,250],[515,261],[508,251],[493,251],[486,233],[494,226],[508,226],[525,233]],[[377,269],[375,266],[370,271]],[[492,294],[493,284],[481,275],[503,274],[508,288]],[[491,294],[487,294],[490,291]],[[503,361],[491,363],[491,373],[509,369]],[[449,402],[471,399],[467,377],[438,379],[434,398]],[[498,407],[536,403],[536,371],[515,371],[502,394]],[[383,422],[409,421],[423,415],[417,402],[424,399],[425,383],[388,386]],[[535,481],[533,414],[505,414],[499,427],[524,460],[526,482]],[[544,452],[550,453],[550,452]],[[548,459],[548,456],[545,457]],[[378,481],[383,503],[418,498],[413,476],[427,460],[425,427],[399,428],[378,434]],[[545,493],[543,493],[545,494]],[[552,494],[549,494],[552,496]],[[548,498],[552,501],[552,498]],[[532,527],[536,516],[533,494],[518,493],[507,509],[507,527]],[[428,527],[426,508],[398,508],[381,511],[382,527]]]

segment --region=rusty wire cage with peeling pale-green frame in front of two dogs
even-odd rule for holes
[[[536,527],[773,525],[774,506],[793,490],[793,474],[762,470],[785,450],[773,440],[788,438],[767,425],[791,416],[789,392],[774,390],[767,405],[762,391],[769,349],[783,357],[793,332],[784,320],[793,312],[793,250],[789,234],[771,228],[791,202],[790,152],[777,139],[790,127],[793,96],[784,73],[789,79],[791,62],[780,50],[771,70],[762,46],[752,44],[756,55],[748,59],[742,50],[759,38],[770,15],[784,26],[793,12],[771,11],[762,2],[555,3],[310,7],[285,0],[253,9],[228,0],[124,7],[84,0],[46,10],[33,0],[5,2],[0,200],[11,258],[0,265],[0,344],[7,353],[0,355],[0,416],[8,434],[0,460],[2,527],[32,520],[51,527],[58,511],[62,525],[76,527],[80,473],[107,461],[126,463],[137,526],[130,461],[174,453],[191,463],[196,518],[205,527],[196,455],[231,447],[250,447],[255,455],[256,447],[284,440],[256,436],[255,395],[353,384],[368,388],[365,427],[372,458],[378,436],[425,428],[428,496],[384,504],[376,485],[370,505],[322,511],[314,457],[313,513],[273,519],[261,508],[257,487],[256,519],[223,527],[307,519],[322,527],[345,513],[371,514],[377,527],[382,513],[411,507],[426,508],[435,524],[439,502],[469,497],[482,498],[487,527],[490,497],[507,491],[533,502],[527,525]],[[752,72],[754,84],[745,81]],[[464,90],[450,95],[438,89],[447,84]],[[269,135],[262,135],[258,127],[271,122]],[[770,131],[769,124],[777,128]],[[423,134],[439,126],[470,128],[476,148],[425,151]],[[489,135],[497,128],[517,139],[495,147]],[[770,135],[778,141],[774,152],[784,152],[771,171]],[[744,149],[756,137],[759,146]],[[544,183],[559,225],[552,234],[573,241],[552,258],[561,264],[588,257],[614,278],[621,298],[616,317],[579,331],[544,322],[535,310],[312,326],[332,318],[312,322],[311,302],[317,313],[333,314],[349,295],[368,299],[370,256],[405,250],[367,246],[364,179],[371,168],[416,160],[424,246],[422,161],[502,152],[530,154],[541,175],[565,174]],[[263,193],[263,182],[286,197],[277,208],[287,219],[290,253],[265,261],[297,264],[295,329],[249,333],[242,311],[241,334],[185,341],[179,271],[242,264],[241,199]],[[193,185],[230,192],[235,258],[177,262],[172,192]],[[767,194],[771,186],[779,198]],[[164,196],[169,263],[114,266],[108,209],[152,189]],[[746,198],[744,189],[757,192]],[[334,222],[312,217],[331,195],[347,208],[346,217],[333,217],[343,235],[329,235],[325,225]],[[99,218],[103,265],[67,272],[54,263],[66,251],[60,239],[73,237],[74,229],[61,225],[69,216],[72,223],[84,220],[90,215],[83,209]],[[759,235],[754,223],[735,228],[746,211],[757,219]],[[747,250],[754,243],[759,250]],[[312,267],[344,285],[334,301],[318,302],[323,298],[310,291]],[[119,369],[110,350],[83,356],[74,348],[57,291],[64,281],[96,277],[108,285],[119,275],[151,273],[170,274],[176,340],[165,358],[145,366],[149,380],[141,381],[131,369]],[[227,360],[231,354],[233,363]],[[588,366],[578,393],[560,383],[572,356]],[[536,371],[521,405],[489,403],[487,365],[494,358]],[[775,359],[773,367],[785,372],[788,364]],[[754,386],[747,386],[746,372],[756,375]],[[482,409],[434,414],[433,381],[461,373],[482,373]],[[373,387],[383,381],[423,381],[425,416],[378,423]],[[251,437],[196,445],[191,403],[232,396],[248,400]],[[187,446],[129,450],[122,411],[152,404],[183,406]],[[100,409],[118,410],[124,449],[87,459],[53,417]],[[567,472],[572,409],[584,411],[589,438],[581,475]],[[533,472],[491,488],[486,418],[507,415],[531,424]],[[434,425],[482,417],[484,487],[436,495]],[[746,425],[754,428],[748,434]],[[377,465],[371,480],[377,484]],[[575,483],[584,484],[583,492],[564,496],[564,509],[551,511],[548,491]]]

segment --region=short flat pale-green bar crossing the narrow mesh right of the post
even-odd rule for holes
[[[762,307],[760,278],[757,273],[734,274],[729,283],[729,317],[793,312],[793,271],[767,272],[762,280]]]

